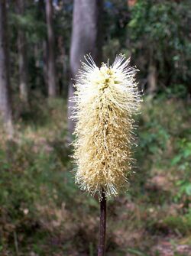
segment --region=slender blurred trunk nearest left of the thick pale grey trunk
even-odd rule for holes
[[[56,67],[55,67],[55,49],[53,34],[53,2],[46,0],[46,16],[47,16],[47,47],[48,47],[48,96],[57,96]]]

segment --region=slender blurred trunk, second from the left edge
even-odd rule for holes
[[[24,15],[24,0],[17,0],[18,15]],[[19,91],[21,100],[28,103],[28,63],[25,33],[18,28]]]

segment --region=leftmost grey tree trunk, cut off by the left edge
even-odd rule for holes
[[[0,114],[9,135],[13,134],[9,84],[8,28],[6,0],[0,0]]]

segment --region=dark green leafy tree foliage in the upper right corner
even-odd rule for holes
[[[136,63],[141,71],[148,61],[157,66],[157,76],[165,86],[187,83],[191,44],[190,1],[138,1],[131,10],[128,34],[131,37]],[[148,60],[148,61],[147,61]]]

